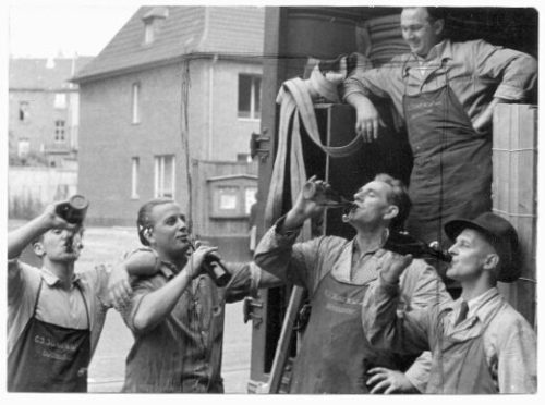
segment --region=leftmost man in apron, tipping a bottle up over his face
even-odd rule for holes
[[[11,392],[87,391],[87,368],[109,308],[110,272],[105,266],[74,272],[83,228],[57,214],[63,202],[8,235]],[[31,243],[40,269],[17,259]]]

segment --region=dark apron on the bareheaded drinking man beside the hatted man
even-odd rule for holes
[[[341,283],[328,273],[312,300],[312,315],[293,367],[290,393],[367,393],[373,367],[399,368],[392,354],[374,348],[362,327],[368,284]]]

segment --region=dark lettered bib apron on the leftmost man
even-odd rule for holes
[[[40,280],[28,323],[8,358],[8,391],[87,392],[90,361],[89,329],[71,329],[36,319],[44,279]],[[87,324],[89,311],[85,303]]]

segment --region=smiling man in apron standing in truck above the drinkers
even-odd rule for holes
[[[444,39],[441,8],[405,8],[401,32],[411,53],[344,82],[365,142],[378,135],[372,103],[388,98],[403,118],[413,152],[408,231],[426,243],[448,243],[443,225],[492,208],[492,115],[498,102],[520,102],[534,89],[532,57],[483,40]]]

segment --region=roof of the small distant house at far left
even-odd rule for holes
[[[77,58],[10,58],[11,90],[59,90],[70,87],[69,79],[93,57]],[[73,85],[72,85],[73,86]]]

